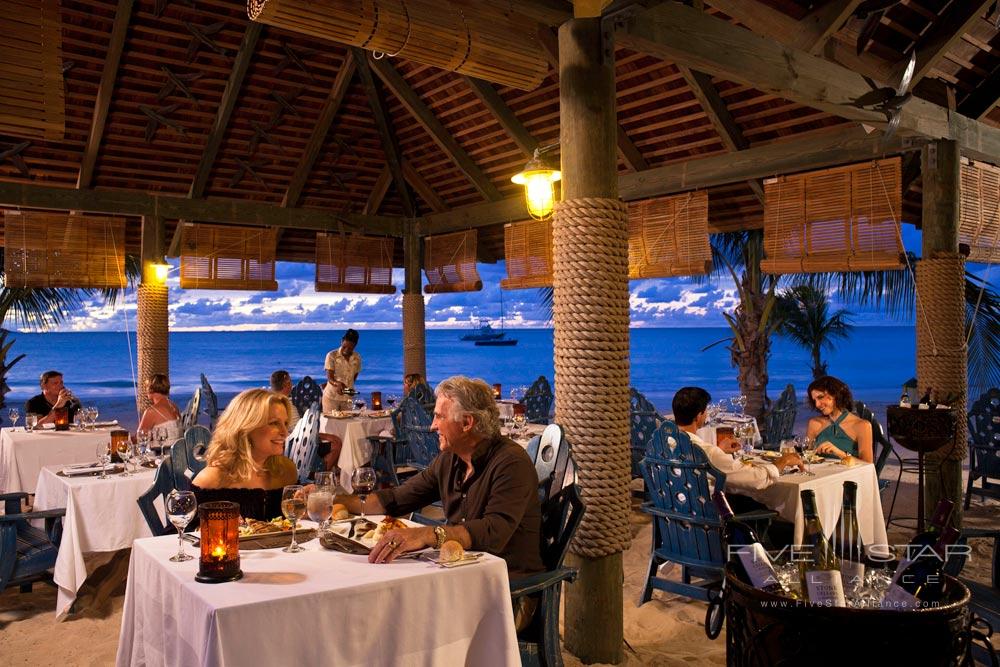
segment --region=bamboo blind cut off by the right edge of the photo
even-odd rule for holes
[[[963,164],[961,195],[958,242],[969,246],[969,261],[1000,264],[1000,169]]]

